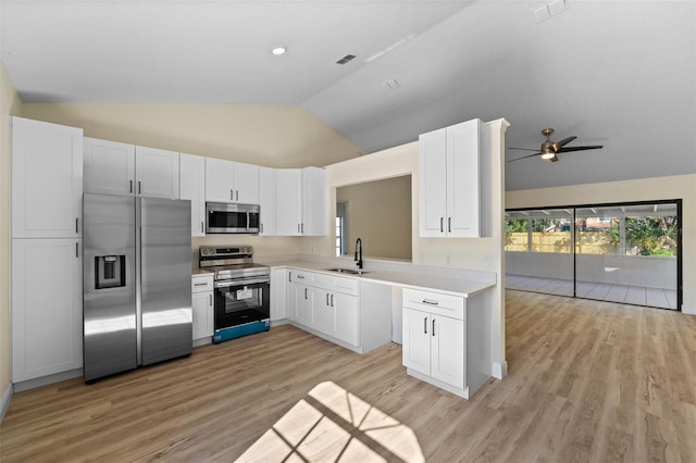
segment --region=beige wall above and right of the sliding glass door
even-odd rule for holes
[[[508,191],[506,208],[600,204],[606,202],[682,199],[682,310],[696,314],[696,175],[642,178],[556,188]]]

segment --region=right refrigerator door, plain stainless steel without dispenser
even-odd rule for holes
[[[141,364],[192,348],[190,201],[136,199],[140,208]]]

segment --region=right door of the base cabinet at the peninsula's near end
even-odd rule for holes
[[[464,322],[447,316],[431,318],[431,376],[464,387]]]

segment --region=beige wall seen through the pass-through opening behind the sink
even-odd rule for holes
[[[350,253],[360,237],[364,256],[411,260],[411,177],[348,185],[336,190],[347,207]]]

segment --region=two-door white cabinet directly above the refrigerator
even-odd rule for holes
[[[85,192],[178,199],[178,153],[85,138]]]

